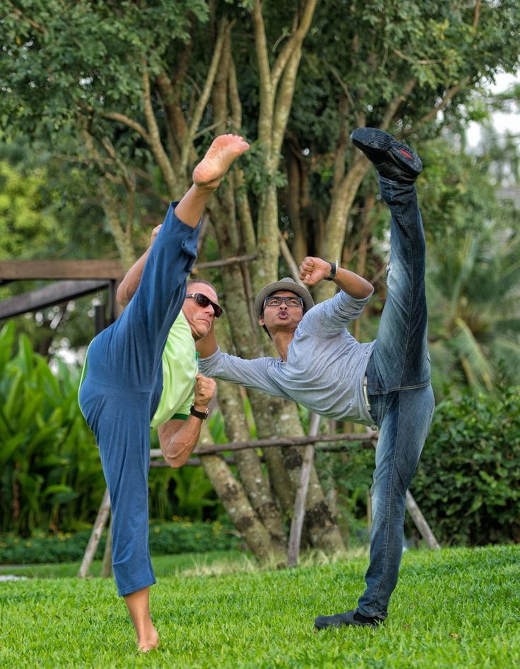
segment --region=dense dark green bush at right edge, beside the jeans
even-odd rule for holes
[[[439,541],[520,541],[520,387],[437,407],[412,490]]]

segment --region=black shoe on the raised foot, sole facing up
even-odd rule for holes
[[[358,128],[350,135],[350,139],[385,179],[413,183],[423,169],[423,163],[415,151],[382,130]]]

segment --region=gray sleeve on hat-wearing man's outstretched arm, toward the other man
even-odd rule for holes
[[[275,358],[244,360],[220,351],[220,347],[208,358],[199,358],[199,370],[204,376],[238,383],[246,388],[263,390],[276,397],[290,399],[273,381],[269,370],[276,364]]]

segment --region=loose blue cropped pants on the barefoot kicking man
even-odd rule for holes
[[[88,348],[79,403],[95,434],[112,506],[112,561],[119,595],[155,583],[148,551],[150,421],[162,392],[162,351],[182,308],[199,227],[170,205],[136,294]]]

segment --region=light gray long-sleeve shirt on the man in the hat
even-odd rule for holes
[[[281,358],[244,360],[219,348],[208,358],[199,358],[199,370],[205,376],[293,399],[327,418],[371,424],[362,385],[375,342],[360,344],[346,329],[369,299],[339,291],[307,311],[285,362]]]

